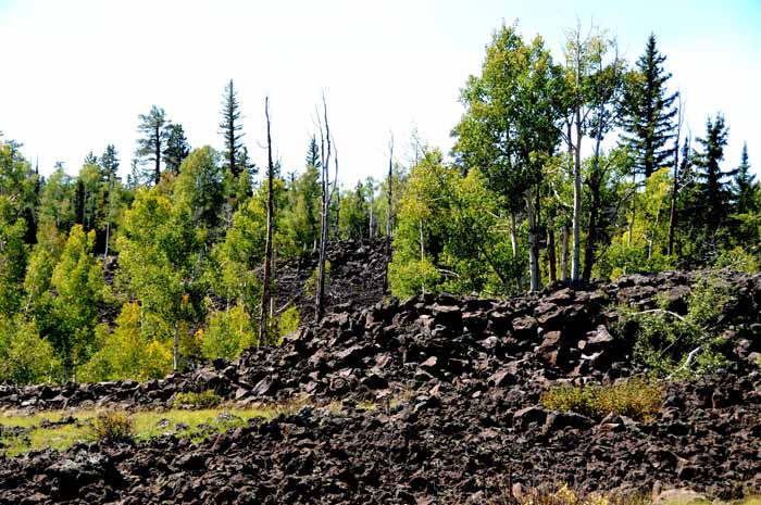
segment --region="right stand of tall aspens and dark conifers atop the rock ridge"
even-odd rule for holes
[[[396,294],[506,294],[668,268],[758,269],[761,193],[728,126],[693,138],[650,36],[634,63],[581,27],[556,62],[502,26],[461,93],[452,163],[421,148],[403,182]]]

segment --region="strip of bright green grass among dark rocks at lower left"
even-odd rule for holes
[[[163,434],[189,438],[194,442],[198,442],[212,434],[247,426],[251,419],[269,420],[279,414],[296,412],[299,407],[299,404],[288,404],[198,411],[173,408],[164,412],[138,411],[122,414],[128,416],[137,442],[145,442]],[[104,412],[108,411],[0,413],[0,451],[7,456],[17,456],[29,451],[43,449],[64,451],[78,442],[91,442],[93,441],[92,425],[96,418]],[[46,419],[54,422],[70,415],[74,417],[75,422],[48,428],[41,426]],[[179,429],[183,426],[185,429]],[[18,432],[12,431],[13,429]]]

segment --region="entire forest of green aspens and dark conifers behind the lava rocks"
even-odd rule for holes
[[[757,272],[761,191],[748,147],[727,166],[729,123],[704,111],[693,134],[670,79],[656,35],[626,61],[613,37],[577,27],[556,61],[540,36],[503,24],[481,74],[463,76],[452,151],[417,135],[391,140],[388,166],[353,187],[339,185],[347,168],[325,99],[303,166],[273,159],[269,102],[269,162],[251,163],[233,80],[219,146],[189,146],[154,105],[137,116],[124,178],[132,153],[111,144],[93,147],[76,176],[59,165],[42,177],[5,131],[0,382],[146,380],[277,344],[300,310],[324,310],[328,241],[388,238],[398,298]],[[314,307],[274,307],[278,265],[307,255],[321,258]]]

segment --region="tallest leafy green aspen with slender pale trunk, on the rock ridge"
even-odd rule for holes
[[[454,129],[465,166],[481,167],[490,187],[512,202],[513,230],[515,213],[526,211],[532,290],[540,282],[538,187],[563,112],[560,76],[540,37],[526,45],[515,26],[503,25],[487,47],[482,76],[471,76],[462,90],[466,112]]]

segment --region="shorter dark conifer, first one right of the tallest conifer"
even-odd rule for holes
[[[724,147],[727,141],[727,127],[724,116],[716,114],[715,119],[710,117],[706,122],[706,138],[699,138],[702,152],[696,156],[698,192],[702,206],[703,224],[710,230],[715,230],[729,213],[732,192],[727,177],[735,175],[737,171],[722,172],[720,163],[724,160]]]

